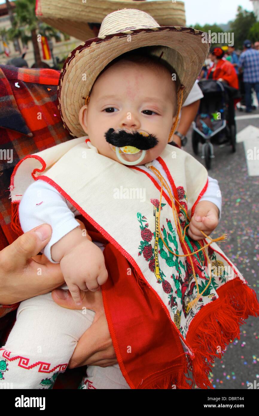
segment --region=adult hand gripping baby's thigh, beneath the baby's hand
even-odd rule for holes
[[[101,290],[97,292],[81,291],[82,304],[79,306],[75,305],[69,290],[55,289],[52,292],[52,298],[58,305],[68,309],[86,307],[96,312],[91,327],[79,339],[68,367],[75,368],[83,365],[108,367],[117,364]]]

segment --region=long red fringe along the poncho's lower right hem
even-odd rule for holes
[[[231,340],[240,339],[239,326],[246,323],[244,319],[249,315],[259,316],[256,293],[238,277],[225,283],[217,293],[219,298],[200,310],[193,319],[186,337],[195,354],[194,359],[187,355],[188,369],[200,389],[214,389],[208,374],[212,371],[215,357],[222,357]]]

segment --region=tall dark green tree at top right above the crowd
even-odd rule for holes
[[[237,17],[230,23],[230,31],[234,32],[234,46],[236,49],[242,49],[243,42],[249,39],[250,29],[256,21],[253,12],[243,10],[241,6],[238,6]]]

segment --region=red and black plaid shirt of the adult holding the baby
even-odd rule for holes
[[[28,154],[72,139],[57,109],[59,73],[0,65],[0,250],[17,238],[10,227],[9,199],[15,165]],[[0,317],[18,305],[0,305]]]

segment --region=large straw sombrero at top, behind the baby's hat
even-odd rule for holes
[[[125,8],[150,13],[160,26],[185,26],[184,2],[172,0],[36,0],[35,14],[62,32],[86,40],[98,36],[106,15]]]

